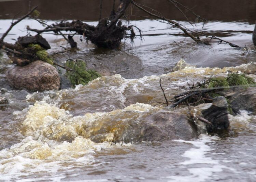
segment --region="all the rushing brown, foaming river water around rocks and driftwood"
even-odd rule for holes
[[[0,20],[0,33],[10,22]],[[248,111],[229,115],[228,134],[164,142],[137,142],[129,136],[137,132],[141,118],[159,109],[168,110],[152,102],[163,99],[160,78],[168,97],[184,91],[177,86],[225,76],[228,71],[245,72],[256,79],[254,25],[246,20],[210,21],[194,27],[181,22],[240,46],[246,44],[247,52],[217,43],[197,45],[181,31],[157,21],[130,23],[147,34],[142,41],[139,37],[133,44],[126,40],[121,50],[112,51],[83,41],[79,42],[80,51],[55,56],[59,63],[83,59],[103,75],[86,86],[69,88],[62,74],[59,91],[14,90],[5,80],[8,58],[0,58],[0,96],[9,101],[7,108],[0,110],[0,181],[256,180],[256,116]],[[5,41],[26,35],[26,25],[42,28],[26,19]],[[60,45],[67,46],[62,37],[44,37],[53,48],[50,53],[62,51]],[[129,141],[120,138],[128,127]]]

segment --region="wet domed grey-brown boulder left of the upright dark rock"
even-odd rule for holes
[[[196,128],[185,114],[160,111],[145,118],[139,141],[163,141],[168,139],[190,140],[198,136]]]

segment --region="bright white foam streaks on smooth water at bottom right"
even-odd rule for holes
[[[168,176],[167,178],[171,179],[169,182],[203,182],[211,179],[215,172],[221,172],[223,168],[226,168],[226,166],[220,165],[218,160],[213,160],[211,157],[205,156],[209,151],[213,150],[207,143],[212,143],[214,140],[217,140],[217,138],[204,134],[200,135],[200,138],[195,141],[174,140],[176,142],[192,144],[197,148],[191,148],[185,151],[182,156],[189,158],[189,160],[179,163],[180,168],[187,168],[191,175]],[[204,164],[204,167],[190,167],[193,164]],[[209,165],[209,167],[205,167],[205,165]]]

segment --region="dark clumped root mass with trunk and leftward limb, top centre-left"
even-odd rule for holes
[[[121,40],[126,38],[126,31],[131,32],[131,35],[129,36],[131,41],[135,37],[132,26],[122,26],[121,21],[118,22],[118,19],[124,15],[125,10],[129,4],[130,0],[120,0],[116,13],[114,12],[113,7],[111,16],[108,18],[100,19],[97,26],[88,25],[87,23],[76,20],[72,22],[61,21],[60,23],[53,24],[43,30],[32,29],[27,26],[27,30],[36,32],[38,34],[51,31],[54,33],[58,33],[60,31],[71,31],[82,35],[98,47],[117,49],[119,48]],[[71,44],[71,47],[76,47],[72,37],[68,38],[68,42]]]

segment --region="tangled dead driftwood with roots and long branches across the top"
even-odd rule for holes
[[[197,23],[198,21],[201,21],[201,22],[207,21],[201,18],[199,15],[197,15],[193,11],[191,11],[188,7],[177,2],[176,0],[167,0],[167,1],[173,4],[182,13],[184,17],[190,22],[190,24],[193,25],[193,23]],[[129,5],[132,5],[138,8],[139,10],[145,12],[149,17],[157,21],[168,23],[172,25],[174,28],[179,28],[187,36],[189,36],[191,39],[193,39],[197,43],[209,44],[209,42],[211,41],[214,41],[214,42],[217,41],[218,43],[229,44],[231,47],[240,48],[238,45],[225,41],[218,37],[208,36],[208,35],[202,34],[201,32],[191,31],[187,29],[185,26],[183,26],[182,24],[166,18],[160,12],[154,10],[153,8],[139,4],[133,0],[120,0],[116,11],[115,11],[115,0],[113,0],[113,9],[110,13],[110,16],[107,18],[101,18],[101,11],[103,8],[102,1],[101,1],[100,17],[99,17],[99,22],[97,26],[89,25],[80,20],[74,20],[72,22],[61,21],[59,23],[48,25],[43,20],[39,20],[37,17],[33,17],[31,15],[34,12],[37,12],[38,14],[38,11],[36,11],[36,8],[38,6],[35,6],[26,15],[22,16],[17,21],[11,23],[9,29],[0,38],[0,48],[5,50],[8,53],[8,56],[14,61],[14,63],[17,63],[18,65],[21,65],[21,66],[24,66],[34,60],[40,59],[40,56],[38,56],[37,54],[38,50],[35,49],[35,47],[33,46],[31,47],[29,45],[38,44],[42,47],[42,49],[45,49],[45,50],[51,48],[48,42],[40,35],[44,32],[53,32],[54,34],[62,35],[70,44],[71,48],[73,49],[77,48],[77,43],[73,39],[73,36],[77,34],[82,35],[87,41],[88,40],[91,41],[97,47],[118,49],[120,47],[120,43],[122,39],[129,38],[133,42],[133,39],[137,36],[134,32],[134,28],[139,31],[139,35],[142,39],[142,32],[137,26],[123,25],[122,20],[120,20],[120,18],[125,16],[126,10]],[[189,11],[190,13],[192,13],[195,16],[195,21],[193,22],[192,20],[189,20],[183,10]],[[37,35],[19,37],[15,44],[4,42],[4,38],[8,35],[10,30],[17,23],[19,23],[20,21],[22,21],[27,17],[32,18],[38,21],[39,23],[43,24],[45,26],[45,29],[37,30],[27,26],[27,30],[36,32]],[[72,34],[69,34],[68,37],[66,37],[62,33],[63,31],[71,32]],[[210,38],[210,40],[208,41],[201,40],[199,36]],[[48,61],[48,62],[51,63],[51,61]]]

